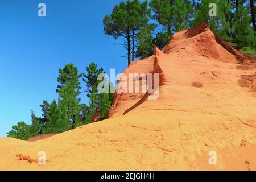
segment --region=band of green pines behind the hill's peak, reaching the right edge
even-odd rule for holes
[[[212,9],[210,3],[216,4],[217,16],[209,16],[209,10]],[[158,31],[147,28],[139,31],[136,56],[140,59],[151,56],[154,53],[154,46],[160,49],[166,46],[175,32],[204,22],[214,34],[236,44],[237,48],[247,46],[255,49],[256,47],[255,30],[252,26],[255,22],[252,13],[255,13],[255,10],[251,9],[253,7],[250,6],[251,1],[151,0],[149,4],[153,11],[152,19],[156,20],[159,26],[156,28]],[[162,36],[158,35],[166,36],[162,39]]]

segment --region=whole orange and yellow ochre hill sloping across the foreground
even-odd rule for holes
[[[206,24],[177,32],[124,73],[159,73],[158,100],[115,94],[105,121],[36,142],[0,138],[0,169],[256,170],[255,63]],[[46,165],[16,157],[39,151]]]

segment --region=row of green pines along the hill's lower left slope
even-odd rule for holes
[[[27,140],[41,134],[62,133],[75,129],[78,126],[91,123],[91,118],[97,110],[101,110],[101,119],[108,117],[108,111],[114,100],[114,94],[98,93],[97,86],[100,81],[98,75],[104,73],[103,68],[91,63],[86,68],[87,74],[79,74],[78,69],[73,64],[67,64],[63,69],[59,69],[59,77],[56,92],[59,94],[58,100],[53,100],[51,104],[43,101],[42,117],[36,117],[31,110],[31,125],[25,122],[18,122],[7,133],[8,137]],[[80,98],[80,78],[84,75],[87,96],[90,99],[89,106],[81,103]],[[113,84],[109,84],[109,88]]]

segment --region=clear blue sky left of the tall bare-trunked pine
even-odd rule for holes
[[[46,3],[47,16],[38,16]],[[79,72],[91,61],[121,73],[127,66],[121,43],[104,34],[102,20],[119,0],[0,0],[0,137],[18,121],[40,116],[43,100],[57,98],[59,68],[73,63]],[[82,83],[85,90],[85,84]],[[88,102],[85,93],[82,102]]]

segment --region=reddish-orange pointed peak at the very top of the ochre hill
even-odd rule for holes
[[[207,57],[226,63],[237,63],[236,57],[216,42],[216,36],[206,23],[177,32],[162,50],[166,54],[179,53],[193,57]]]

